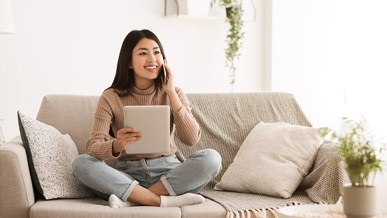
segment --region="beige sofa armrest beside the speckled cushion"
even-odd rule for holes
[[[29,217],[35,196],[20,136],[0,146],[0,193],[0,218]]]

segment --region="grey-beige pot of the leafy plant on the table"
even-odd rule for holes
[[[344,185],[344,213],[347,218],[372,218],[377,214],[377,187]]]

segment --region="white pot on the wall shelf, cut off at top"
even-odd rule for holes
[[[205,17],[209,15],[211,0],[178,0],[181,15]]]

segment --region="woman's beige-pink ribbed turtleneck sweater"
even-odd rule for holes
[[[188,102],[187,96],[181,88],[176,87],[176,93],[183,107],[180,111],[174,113],[167,93],[164,90],[155,90],[154,84],[146,90],[134,87],[132,93],[125,97],[118,96],[113,89],[105,90],[99,97],[92,132],[90,132],[90,139],[86,144],[86,154],[101,160],[120,158],[124,161],[169,156],[176,153],[174,125],[176,125],[178,138],[181,139],[181,142],[189,146],[197,144],[200,138],[200,129],[195,117],[192,116],[190,102]],[[110,126],[114,135],[117,136],[117,131],[124,128],[123,108],[127,105],[169,105],[171,108],[171,151],[168,154],[126,154],[123,150],[119,156],[113,156],[113,140],[109,135]]]

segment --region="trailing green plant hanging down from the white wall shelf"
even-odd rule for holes
[[[216,0],[211,2],[211,4],[215,3]],[[241,55],[239,48],[242,45],[241,39],[244,37],[244,32],[242,32],[242,27],[244,26],[242,15],[244,11],[242,10],[241,0],[219,0],[219,5],[225,7],[227,21],[230,24],[230,29],[226,36],[227,48],[225,48],[225,55],[226,67],[230,68],[230,84],[232,85],[232,90],[234,90],[236,71],[234,60],[239,59],[239,55]]]

